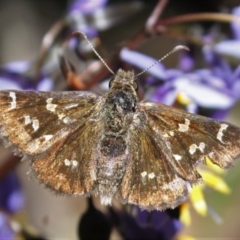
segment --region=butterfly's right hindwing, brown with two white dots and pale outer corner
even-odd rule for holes
[[[164,210],[186,200],[188,183],[169,161],[170,149],[138,112],[129,130],[129,162],[119,190],[123,202]]]

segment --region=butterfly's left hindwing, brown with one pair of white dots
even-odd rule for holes
[[[57,193],[87,194],[94,190],[101,121],[76,125],[65,138],[31,163],[38,181]]]

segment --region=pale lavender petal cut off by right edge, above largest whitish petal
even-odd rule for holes
[[[225,40],[219,42],[214,46],[214,50],[219,54],[240,58],[240,40]]]

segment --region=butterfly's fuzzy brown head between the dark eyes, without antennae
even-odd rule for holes
[[[134,72],[119,69],[114,78],[109,82],[109,89],[114,88],[130,88],[136,92],[138,84]]]

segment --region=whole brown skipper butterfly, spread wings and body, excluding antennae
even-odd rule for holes
[[[240,153],[240,129],[162,104],[139,101],[133,72],[109,92],[0,91],[0,134],[57,193],[113,197],[144,209],[174,208],[206,157],[222,168]]]

